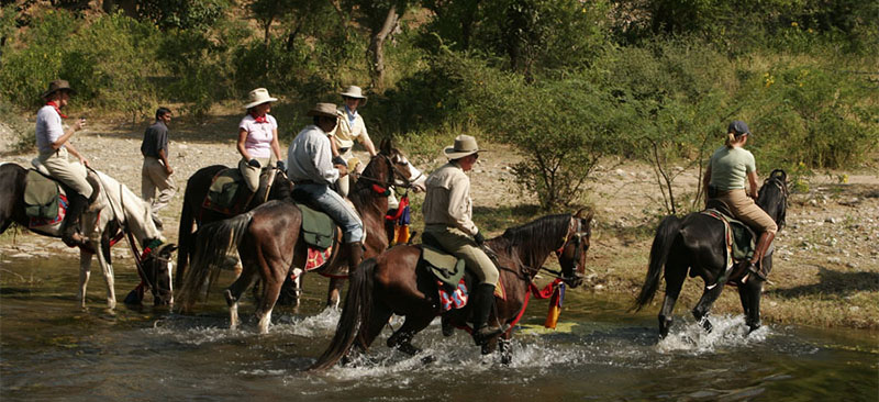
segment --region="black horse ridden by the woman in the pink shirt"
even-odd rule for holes
[[[203,205],[204,198],[208,196],[208,190],[211,187],[214,176],[220,171],[226,169],[223,165],[213,165],[199,169],[186,182],[186,193],[183,194],[183,210],[180,212],[180,226],[178,228],[178,250],[177,250],[177,272],[175,273],[175,287],[180,287],[182,283],[186,269],[189,261],[194,254],[192,248],[197,232],[193,227],[204,225],[211,222],[222,221],[232,217],[219,211],[207,209]],[[267,167],[265,169],[275,169]],[[271,186],[268,187],[268,194],[265,189],[258,190],[252,198],[251,202],[241,211],[242,213],[259,206],[266,201],[282,200],[290,196],[292,183],[287,179],[287,175],[280,170],[276,171],[275,179]]]

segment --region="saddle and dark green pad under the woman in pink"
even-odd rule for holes
[[[254,197],[262,194],[265,199],[268,181],[274,179],[274,176],[270,175],[271,171],[272,168],[270,167],[263,168],[259,174],[259,187],[257,187],[256,192],[247,191],[247,185],[244,183],[244,177],[237,167],[218,171],[211,180],[211,187],[204,197],[202,208],[226,215],[237,215],[245,212]]]

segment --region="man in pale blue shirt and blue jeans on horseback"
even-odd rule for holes
[[[353,273],[364,255],[364,224],[357,212],[330,185],[347,175],[345,165],[333,165],[326,133],[336,126],[336,105],[318,103],[308,115],[314,124],[305,126],[287,149],[287,175],[296,189],[308,192],[330,217],[342,226],[348,247],[348,272]]]

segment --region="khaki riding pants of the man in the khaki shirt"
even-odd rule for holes
[[[445,225],[427,225],[424,227],[424,233],[432,234],[446,252],[464,259],[467,268],[479,278],[479,283],[498,286],[498,278],[500,277],[498,268],[494,267],[491,258],[476,245],[472,236],[456,227]]]

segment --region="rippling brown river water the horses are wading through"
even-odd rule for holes
[[[120,300],[136,284],[125,263],[115,267]],[[93,272],[89,308],[80,310],[77,260],[0,264],[4,402],[879,400],[875,332],[767,325],[746,335],[744,319],[732,315],[714,316],[714,332],[704,334],[679,306],[672,333],[657,343],[658,308],[630,314],[625,302],[576,290],[556,331],[542,327],[546,301],[532,300],[509,366],[480,356],[463,332],[444,338],[435,321],[414,340],[431,364],[389,350],[387,330],[354,365],[311,373],[303,369],[338,319],[322,311],[326,281],[319,276],[305,277],[299,312],[276,309],[270,333],[258,335],[248,301],[242,328],[226,328],[219,288],[196,315],[124,305],[111,312]]]

